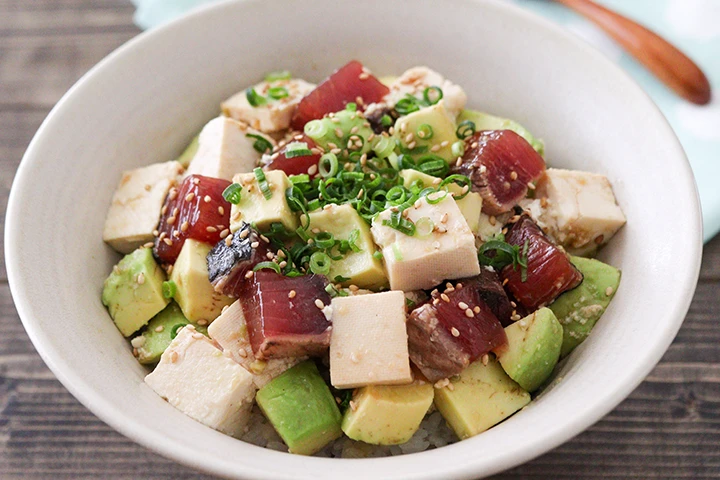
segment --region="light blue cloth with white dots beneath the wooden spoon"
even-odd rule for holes
[[[135,22],[150,28],[215,0],[133,0]],[[705,240],[720,231],[720,0],[596,0],[639,20],[689,54],[705,71],[714,100],[694,106],[674,95],[601,30],[547,0],[508,0],[552,19],[600,49],[650,94],[675,129],[690,159],[703,208]],[[673,195],[668,179],[667,195]]]

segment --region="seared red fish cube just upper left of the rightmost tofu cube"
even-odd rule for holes
[[[462,162],[451,170],[470,178],[483,212],[498,215],[525,198],[528,184],[545,171],[545,160],[512,130],[486,130],[466,140]]]

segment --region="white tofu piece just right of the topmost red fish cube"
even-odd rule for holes
[[[422,98],[427,87],[440,87],[443,91],[445,108],[454,117],[465,108],[467,103],[465,90],[428,67],[413,67],[406,70],[390,84],[390,93],[385,96],[383,102],[393,106],[406,95]]]

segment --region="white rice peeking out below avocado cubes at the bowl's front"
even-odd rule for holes
[[[241,440],[259,447],[287,452],[287,447],[260,409],[255,406],[248,431]],[[374,458],[417,453],[444,447],[458,440],[438,411],[430,411],[412,438],[402,445],[369,445],[343,436],[315,454],[326,458]]]

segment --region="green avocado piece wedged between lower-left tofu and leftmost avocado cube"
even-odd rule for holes
[[[142,364],[154,364],[160,361],[162,353],[167,349],[177,334],[180,327],[189,324],[190,321],[185,318],[182,310],[175,302],[165,307],[165,309],[155,315],[145,326],[138,337],[141,340],[133,339],[133,344],[138,345],[137,359]],[[195,330],[202,334],[207,334],[207,327],[194,325]],[[136,338],[138,338],[136,337]]]

